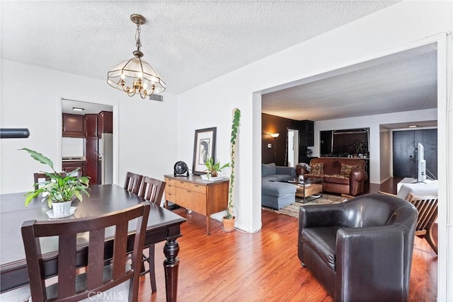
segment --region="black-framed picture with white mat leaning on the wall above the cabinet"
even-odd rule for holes
[[[195,175],[205,174],[207,158],[212,157],[215,162],[215,132],[217,127],[195,130],[195,142],[193,143],[193,168]]]

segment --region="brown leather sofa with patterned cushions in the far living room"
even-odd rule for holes
[[[365,161],[355,158],[312,158],[309,167],[296,165],[297,175],[323,178],[323,192],[357,196],[364,190],[368,174]]]

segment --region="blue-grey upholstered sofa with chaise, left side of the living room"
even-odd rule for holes
[[[283,167],[275,163],[261,164],[261,204],[280,209],[296,202],[296,186],[283,182],[296,177],[293,167]]]

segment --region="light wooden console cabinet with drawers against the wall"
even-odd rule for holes
[[[211,214],[226,210],[228,203],[228,180],[205,181],[198,175],[165,175],[165,207],[168,202],[206,216],[206,233],[210,234]]]

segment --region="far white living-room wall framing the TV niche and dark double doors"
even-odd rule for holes
[[[348,119],[325,120],[314,123],[314,154],[319,156],[319,132],[325,130],[354,129],[369,127],[369,182],[381,183],[380,154],[381,124],[398,122],[431,121],[437,120],[437,109],[417,110],[389,113],[386,115],[367,115],[363,117],[350,117]],[[387,162],[384,162],[387,163]],[[383,175],[384,176],[384,175]]]

